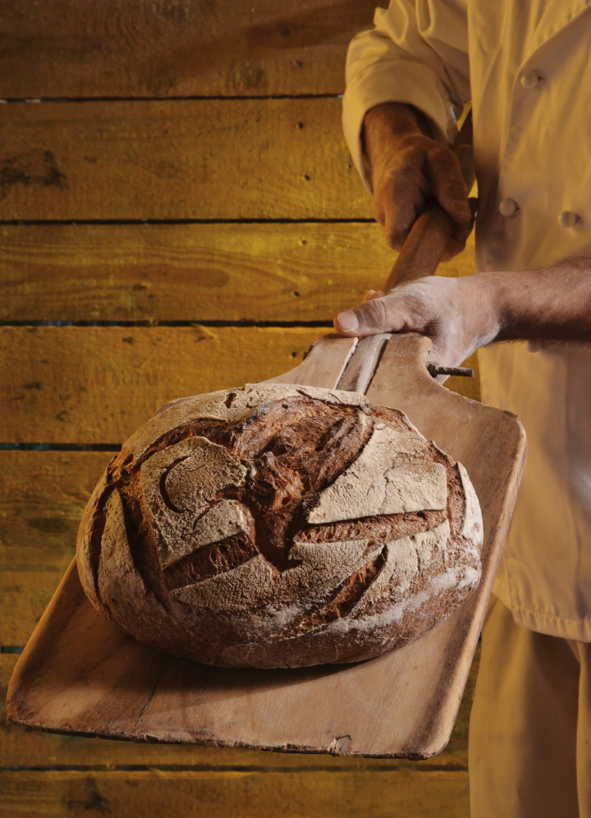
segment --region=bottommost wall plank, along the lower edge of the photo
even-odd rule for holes
[[[195,805],[197,811],[195,811]],[[112,814],[128,818],[207,815],[208,818],[468,818],[466,772],[163,773],[7,772],[4,816]]]

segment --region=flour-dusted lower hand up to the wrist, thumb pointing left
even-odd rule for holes
[[[488,276],[481,275],[419,278],[389,295],[370,290],[363,303],[334,319],[341,335],[427,335],[432,360],[441,366],[458,366],[475,349],[490,344],[499,327],[494,290]]]

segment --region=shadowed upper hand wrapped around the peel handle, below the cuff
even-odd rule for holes
[[[387,244],[400,250],[425,200],[435,196],[458,222],[441,260],[461,253],[477,200],[468,202],[459,161],[432,139],[427,119],[410,106],[387,102],[365,115],[363,142],[374,188],[374,216]]]

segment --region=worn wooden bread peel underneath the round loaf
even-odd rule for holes
[[[396,281],[434,272],[445,249],[442,236],[450,225],[436,208],[426,213],[401,252],[403,263],[399,258],[392,271]],[[428,245],[438,249],[437,259],[416,247],[417,235],[433,220],[440,238],[430,234]],[[426,366],[430,346],[416,335],[359,342],[328,335],[302,364],[270,382],[363,392],[375,404],[405,411],[465,465],[484,519],[482,578],[450,618],[365,663],[208,667],[148,648],[102,618],[83,592],[74,559],[16,665],[9,719],[38,730],[136,741],[379,757],[441,752],[477,645],[526,439],[514,416],[437,384]]]

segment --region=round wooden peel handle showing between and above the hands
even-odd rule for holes
[[[472,188],[475,179],[472,156],[472,110],[464,120],[452,151],[458,157],[463,180]],[[454,231],[455,222],[441,205],[429,200],[410,229],[400,255],[387,277],[383,290],[389,293],[398,284],[432,276]]]

